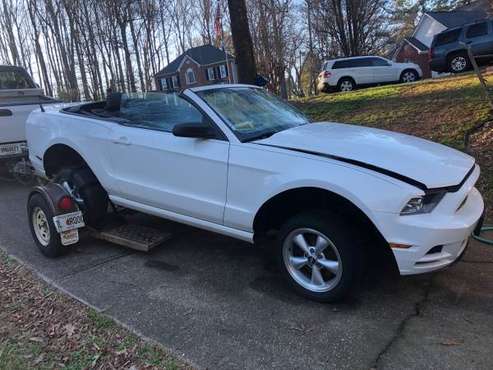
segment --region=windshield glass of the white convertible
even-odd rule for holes
[[[242,142],[263,139],[309,122],[298,110],[261,89],[228,87],[197,94]]]

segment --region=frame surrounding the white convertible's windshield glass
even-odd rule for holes
[[[229,120],[228,120],[227,117],[225,117],[221,112],[219,112],[214,106],[212,106],[211,104],[209,104],[209,102],[204,97],[202,97],[202,95],[201,95],[202,92],[216,91],[216,90],[222,90],[222,89],[228,89],[228,90],[235,90],[235,89],[261,90],[262,92],[264,92],[264,93],[266,93],[268,95],[271,95],[273,98],[275,98],[277,101],[279,101],[280,105],[287,106],[289,109],[293,110],[297,115],[300,115],[301,117],[303,117],[304,120],[305,120],[305,123],[303,123],[303,124],[301,124],[299,126],[303,126],[303,125],[306,125],[306,124],[309,124],[309,123],[312,122],[298,108],[294,107],[292,104],[288,103],[287,101],[281,100],[276,95],[271,94],[269,91],[266,91],[265,89],[263,89],[261,87],[258,87],[258,86],[245,85],[245,84],[234,84],[234,85],[221,85],[221,86],[214,86],[214,87],[212,87],[212,86],[202,86],[202,87],[197,87],[197,88],[189,89],[189,91],[193,92],[194,95],[197,96],[197,98],[200,99],[200,101],[203,102],[207,106],[207,108],[209,108],[221,120],[221,122],[224,124],[224,126],[226,126],[226,128],[241,143],[247,143],[247,142],[252,142],[252,141],[256,141],[256,140],[261,140],[261,139],[267,138],[267,137],[269,137],[271,135],[274,135],[274,134],[276,134],[278,132],[289,130],[290,128],[294,128],[294,127],[297,127],[297,126],[288,127],[288,128],[285,128],[285,129],[282,129],[282,130],[277,130],[277,131],[274,131],[274,130],[259,130],[259,131],[256,131],[253,134],[241,134],[241,132],[239,132],[239,131],[235,130],[233,127],[231,127],[231,123],[228,122]]]

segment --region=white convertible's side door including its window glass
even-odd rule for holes
[[[176,137],[178,123],[209,119],[174,94],[123,109],[129,122],[114,130],[110,144],[119,196],[141,205],[223,223],[229,142]],[[170,98],[170,99],[168,99]],[[128,105],[128,102],[127,102]],[[159,106],[161,105],[161,106]]]

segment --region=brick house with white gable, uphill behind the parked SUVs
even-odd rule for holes
[[[412,62],[431,77],[429,48],[433,37],[449,28],[459,27],[488,17],[492,8],[489,0],[477,0],[451,11],[426,12],[410,37],[405,38],[394,53],[396,62]]]

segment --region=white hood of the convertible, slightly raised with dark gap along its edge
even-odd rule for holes
[[[469,155],[417,137],[332,122],[298,126],[255,143],[341,160],[427,189],[460,184],[475,162]]]

